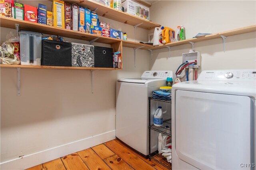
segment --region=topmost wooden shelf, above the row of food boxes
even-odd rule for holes
[[[154,29],[154,27],[160,27],[160,25],[157,23],[144,20],[142,18],[138,18],[136,16],[127,14],[125,12],[115,10],[113,8],[100,4],[98,2],[94,2],[93,0],[64,0],[64,1],[70,4],[77,3],[79,6],[90,8],[90,10],[94,10],[98,8],[96,12],[99,16],[103,16],[111,20],[119,21],[129,25],[137,25],[139,23],[142,23],[141,25],[138,26],[140,28]]]

